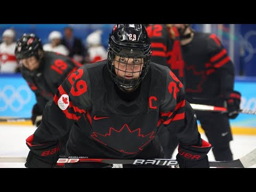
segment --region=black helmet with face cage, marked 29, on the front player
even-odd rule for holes
[[[134,89],[137,87],[148,72],[151,57],[151,42],[145,26],[143,24],[115,25],[112,33],[109,35],[107,52],[108,70],[117,86],[121,89]],[[141,58],[143,62],[141,62],[140,65],[143,64],[143,67],[140,68],[140,71],[132,71],[132,73],[140,73],[139,78],[125,79],[119,77],[115,70],[119,71],[121,69],[119,69],[119,65],[118,68],[114,66],[116,56],[133,60]],[[120,62],[120,60],[118,62]],[[127,72],[126,69],[122,71]]]

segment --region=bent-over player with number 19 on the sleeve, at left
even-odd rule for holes
[[[64,79],[82,65],[64,55],[43,51],[41,39],[35,34],[24,34],[18,39],[15,55],[23,78],[36,95],[31,120],[35,126],[39,126],[46,103],[53,99]],[[64,137],[63,142],[65,140]],[[63,151],[64,144],[61,154]]]

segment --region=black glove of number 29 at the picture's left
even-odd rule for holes
[[[57,163],[59,157],[60,143],[47,142],[44,144],[32,145],[34,134],[26,139],[30,149],[27,162],[28,168],[52,168]]]

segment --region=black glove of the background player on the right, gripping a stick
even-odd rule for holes
[[[226,97],[227,100],[227,109],[228,109],[228,118],[234,119],[239,113],[237,113],[240,109],[241,102],[241,93],[238,91],[233,91]]]

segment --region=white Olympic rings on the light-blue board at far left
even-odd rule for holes
[[[1,102],[1,100],[3,100],[4,102]],[[10,107],[12,111],[18,112],[30,100],[31,91],[25,85],[19,86],[17,90],[12,85],[5,85],[2,90],[0,89],[0,103],[4,103],[4,106],[0,104],[0,111],[5,111],[8,107]],[[18,105],[17,102],[19,103]]]

